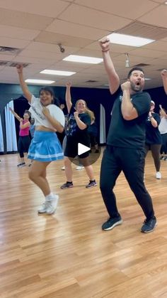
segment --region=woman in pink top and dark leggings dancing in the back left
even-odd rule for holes
[[[18,164],[18,168],[21,168],[25,166],[24,152],[28,152],[28,149],[30,147],[30,112],[28,110],[25,110],[23,118],[21,118],[16,112],[14,112],[14,110],[11,109],[11,107],[9,107],[9,110],[20,122],[18,139],[18,153],[20,155],[20,163]]]

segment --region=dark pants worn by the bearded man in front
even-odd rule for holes
[[[119,215],[113,188],[121,171],[125,174],[125,178],[146,218],[154,217],[151,196],[144,186],[144,159],[144,148],[106,147],[100,169],[100,191],[110,217],[114,218]]]

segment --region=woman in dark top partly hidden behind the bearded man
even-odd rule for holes
[[[161,179],[160,166],[161,161],[159,159],[160,149],[161,149],[161,133],[159,132],[159,124],[161,118],[159,114],[154,112],[155,103],[151,100],[151,108],[149,115],[146,119],[146,154],[151,150],[151,154],[154,159],[154,165],[156,168],[156,179]]]

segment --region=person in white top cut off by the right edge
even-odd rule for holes
[[[161,138],[162,138],[160,159],[166,161],[167,160],[167,114],[166,114],[166,110],[164,110],[161,105],[159,105],[159,107],[160,107],[159,114],[161,117],[161,122],[159,124],[159,131],[161,133]]]

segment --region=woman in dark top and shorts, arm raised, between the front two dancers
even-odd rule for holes
[[[73,187],[71,161],[78,155],[78,144],[81,143],[86,147],[90,146],[88,126],[91,124],[92,115],[92,112],[86,107],[84,100],[78,100],[75,107],[72,106],[71,83],[67,83],[66,86],[66,103],[69,117],[66,130],[67,144],[64,151],[64,166],[67,182],[61,186],[62,189]],[[91,188],[96,186],[97,183],[93,176],[93,168],[88,155],[89,152],[86,151],[79,155],[79,159],[81,159],[81,164],[83,164],[86,169],[86,174],[89,178],[89,183],[86,185],[86,188]]]

